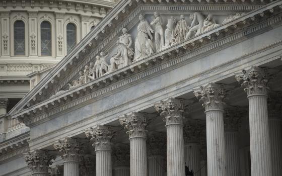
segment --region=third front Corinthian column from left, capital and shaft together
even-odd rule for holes
[[[85,132],[93,141],[96,152],[96,176],[112,176],[112,137],[111,127],[98,125]]]

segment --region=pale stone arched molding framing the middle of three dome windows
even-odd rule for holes
[[[44,56],[41,54],[41,24],[43,22],[49,22],[51,25],[51,56],[55,56],[55,24],[52,20],[52,18],[48,17],[45,18],[42,16],[42,18],[40,18],[40,20],[38,21],[38,25],[37,25],[37,33],[38,33],[38,37],[37,37],[37,50],[38,50],[38,56]],[[48,56],[47,56],[48,57]]]

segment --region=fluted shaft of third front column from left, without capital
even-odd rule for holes
[[[96,175],[112,176],[112,151],[95,150],[96,152]]]

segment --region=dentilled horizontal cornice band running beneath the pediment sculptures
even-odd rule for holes
[[[239,41],[245,40],[246,39],[245,36],[254,35],[255,33],[259,33],[259,31],[261,30],[265,31],[267,29],[270,29],[269,27],[271,24],[274,24],[274,22],[280,24],[281,21],[282,21],[281,14],[279,14],[279,16],[273,16],[268,19],[260,20],[259,22],[256,22],[249,28],[240,29],[234,33],[231,33],[228,36],[223,36],[218,40],[214,40],[212,42],[206,43],[205,45],[198,46],[197,48],[194,48],[190,51],[186,51],[179,55],[175,55],[172,53],[175,51],[175,48],[172,47],[174,49],[171,50],[170,56],[173,59],[172,58],[165,59],[170,57],[168,55],[161,55],[164,56],[163,59],[165,59],[163,62],[161,61],[162,59],[160,57],[158,58],[159,61],[156,60],[155,62],[152,57],[145,58],[133,64],[130,68],[127,67],[121,70],[117,70],[116,72],[114,72],[114,75],[103,76],[93,82],[78,87],[75,90],[65,92],[57,97],[46,100],[42,102],[40,105],[30,107],[22,111],[21,113],[15,114],[13,117],[14,118],[19,117],[25,122],[27,126],[33,126],[47,117],[49,118],[54,114],[60,113],[62,111],[66,111],[67,109],[78,107],[78,105],[82,106],[87,101],[88,102],[94,100],[97,101],[102,96],[113,93],[115,91],[119,91],[120,89],[124,89],[124,87],[130,86],[138,81],[145,80],[146,78],[148,78],[153,74],[161,74],[162,72],[183,65],[185,62],[188,62],[191,59],[197,59],[197,57],[208,55],[210,53],[226,48],[230,45],[236,44]],[[199,36],[199,37],[203,37],[203,36]],[[152,63],[157,63],[157,64],[147,67],[147,63],[149,63],[148,65]],[[138,69],[141,68],[144,69],[138,71]],[[134,70],[136,70],[136,72]],[[125,72],[131,74],[124,77],[124,79],[111,83],[111,78],[114,78],[115,76],[118,75],[126,75],[127,73]],[[104,87],[99,87],[99,89],[95,88],[98,86],[97,84],[100,83],[102,84],[103,82],[109,82],[110,84],[104,85]],[[94,89],[95,91],[91,92],[92,89]]]

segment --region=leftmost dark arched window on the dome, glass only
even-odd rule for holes
[[[25,55],[25,23],[20,20],[14,23],[14,54]]]

